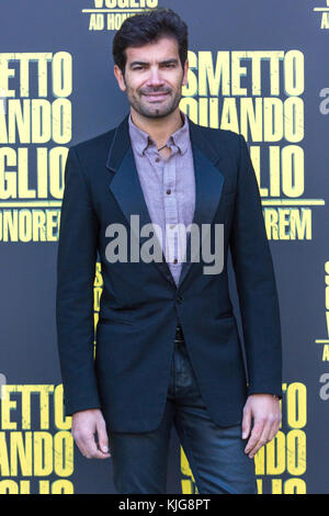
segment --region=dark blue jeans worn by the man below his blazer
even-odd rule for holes
[[[159,427],[144,434],[109,433],[113,481],[118,493],[167,492],[172,424],[198,493],[257,494],[254,461],[243,451],[247,441],[241,439],[241,426],[222,428],[211,419],[179,325]]]

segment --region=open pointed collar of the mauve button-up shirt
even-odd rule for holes
[[[185,154],[190,139],[190,130],[188,116],[181,110],[180,114],[182,120],[184,121],[184,124],[168,138],[167,145],[170,147],[173,143],[179,148],[179,152],[181,154]],[[137,127],[137,125],[133,122],[132,114],[129,114],[128,123],[131,141],[137,153],[141,156],[144,155],[148,146],[156,144],[145,131]]]

